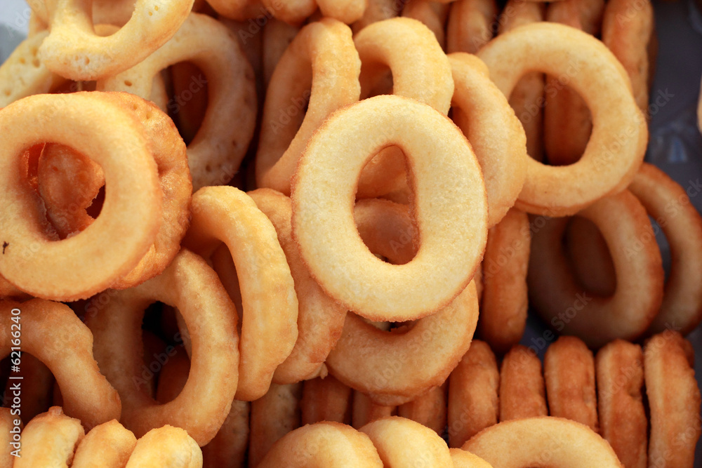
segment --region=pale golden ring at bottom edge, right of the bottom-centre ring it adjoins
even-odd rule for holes
[[[378,450],[385,467],[451,467],[451,453],[436,432],[404,417],[390,416],[359,429]],[[411,441],[411,443],[407,443]]]

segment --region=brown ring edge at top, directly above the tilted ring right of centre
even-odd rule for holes
[[[454,1],[446,25],[446,53],[477,53],[492,39],[497,14],[495,0]]]

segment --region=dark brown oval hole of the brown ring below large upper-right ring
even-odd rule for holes
[[[568,222],[562,243],[578,284],[598,297],[614,295],[617,284],[614,261],[597,225],[574,216]]]

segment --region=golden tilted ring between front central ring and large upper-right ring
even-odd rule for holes
[[[527,178],[527,137],[479,58],[453,53],[449,62],[456,82],[453,121],[468,138],[482,169],[487,224],[493,227],[514,206]]]

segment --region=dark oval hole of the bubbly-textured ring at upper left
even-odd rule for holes
[[[193,62],[178,62],[166,70],[168,115],[185,145],[190,145],[204,121],[209,102],[206,74]]]

